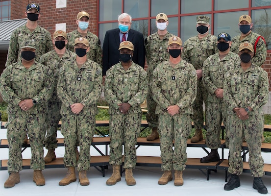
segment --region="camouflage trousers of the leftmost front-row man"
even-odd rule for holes
[[[45,138],[46,114],[16,114],[8,116],[7,140],[8,140],[8,172],[20,172],[23,169],[22,145],[25,139],[25,130],[30,139],[31,162],[33,170],[43,170],[43,141]]]

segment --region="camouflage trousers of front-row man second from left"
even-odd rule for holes
[[[61,133],[64,136],[64,165],[77,167],[78,171],[90,170],[90,145],[95,132],[94,115],[62,114]],[[76,163],[75,147],[79,141],[79,159]]]

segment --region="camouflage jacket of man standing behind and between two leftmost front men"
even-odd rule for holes
[[[50,98],[51,102],[60,102],[59,98],[57,97],[56,92],[56,85],[58,82],[58,76],[59,76],[59,69],[69,61],[72,61],[76,58],[76,54],[68,49],[66,49],[63,56],[60,58],[55,50],[51,50],[47,52],[46,54],[43,54],[40,57],[40,63],[49,67],[50,70],[53,72],[53,77],[55,81],[55,88],[52,94],[52,97]]]

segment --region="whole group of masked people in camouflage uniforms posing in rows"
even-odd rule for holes
[[[88,31],[90,16],[84,11],[77,15],[77,30],[68,34],[57,30],[52,42],[49,32],[37,25],[39,5],[28,4],[25,16],[26,25],[11,35],[6,69],[0,76],[0,93],[9,103],[10,175],[4,187],[10,188],[20,182],[21,146],[26,131],[32,153],[33,181],[37,186],[45,185],[41,171],[45,163],[56,159],[54,149],[60,118],[65,145],[64,165],[68,172],[59,185],[76,181],[75,167],[79,171],[80,184],[89,185],[86,172],[90,169],[89,151],[98,113],[96,102],[103,83],[99,38]],[[121,180],[123,143],[125,180],[127,185],[136,184],[132,170],[136,165],[135,145],[142,117],[140,104],[147,98],[147,121],[152,129],[147,140],[153,141],[160,135],[161,142],[164,173],[158,184],[171,181],[174,170],[174,185],[183,185],[191,118],[196,129],[191,142],[197,143],[203,140],[204,102],[206,145],[211,152],[200,162],[220,161],[218,148],[223,122],[226,146],[229,147],[228,171],[231,173],[224,190],[240,186],[241,146],[245,138],[254,177],[253,188],[266,194],[261,179],[264,162],[260,146],[264,125],[262,106],[267,102],[269,87],[267,73],[260,66],[265,61],[267,48],[264,38],[251,31],[251,18],[248,15],[240,17],[241,35],[231,39],[225,32],[218,37],[209,34],[209,17],[198,16],[198,35],[183,44],[179,37],[167,31],[167,15],[159,13],[156,16],[157,32],[145,40],[146,72],[132,60],[135,44],[123,38],[130,29],[131,16],[125,13],[121,16],[120,62],[107,70],[104,77],[110,115],[109,163],[113,165],[113,173],[106,184],[114,185]],[[45,158],[43,144],[48,149]]]

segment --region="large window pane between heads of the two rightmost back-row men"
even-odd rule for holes
[[[219,33],[225,32],[233,38],[236,35],[240,34],[239,30],[239,17],[248,14],[247,11],[242,12],[228,12],[228,13],[219,13],[215,14],[214,20],[214,35],[218,36]],[[227,20],[225,20],[225,18]]]

